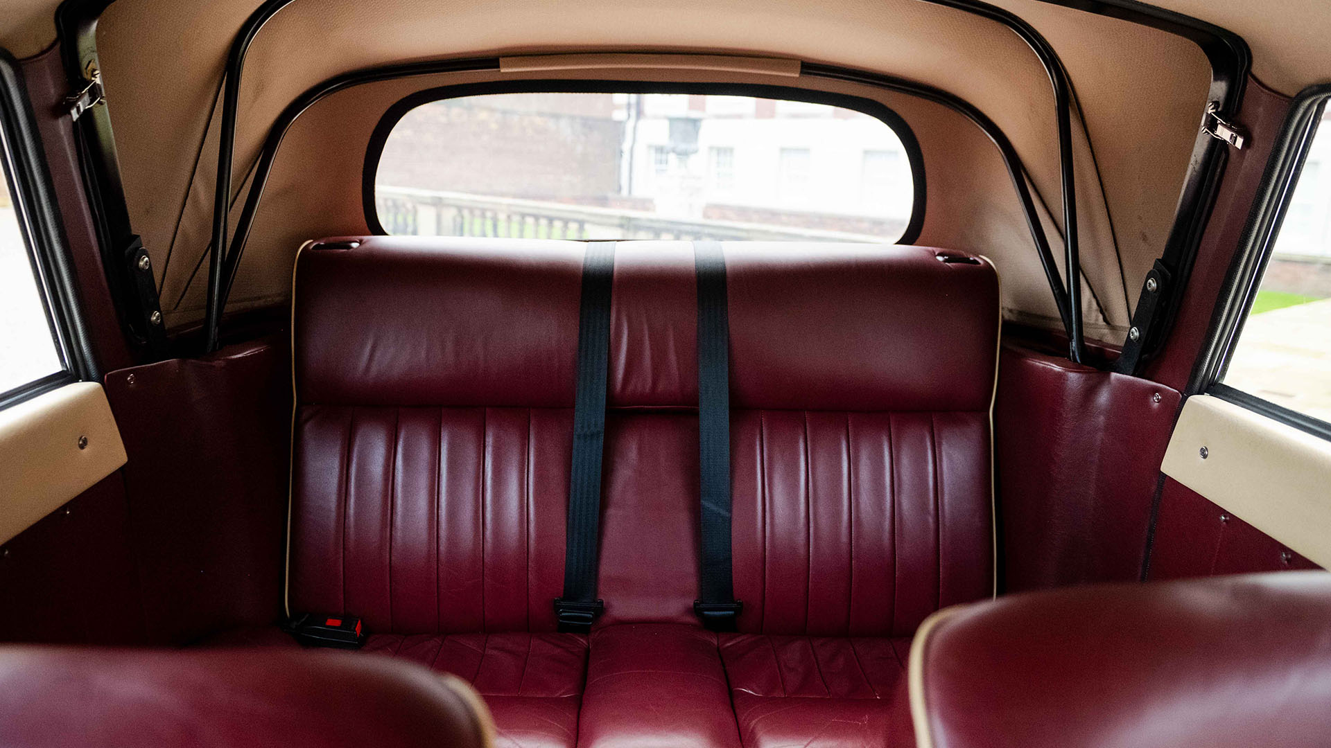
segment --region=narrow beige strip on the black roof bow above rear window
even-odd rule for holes
[[[736,55],[523,55],[499,57],[500,73],[548,71],[713,71],[797,77],[800,61],[784,57],[743,57]]]

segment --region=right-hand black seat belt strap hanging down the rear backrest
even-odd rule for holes
[[[693,611],[712,631],[735,631],[743,607],[731,580],[731,367],[725,254],[693,242],[697,273],[697,443],[701,496],[700,599]]]

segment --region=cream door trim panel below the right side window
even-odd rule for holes
[[[1161,471],[1331,567],[1331,442],[1221,398],[1194,395],[1183,403]]]

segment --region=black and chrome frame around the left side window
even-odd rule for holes
[[[0,170],[33,272],[61,370],[0,391],[0,410],[64,385],[98,379],[64,224],[23,69],[0,48]]]

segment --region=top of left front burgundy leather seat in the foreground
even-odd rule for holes
[[[491,745],[455,679],[303,652],[0,650],[0,743],[25,748]]]

